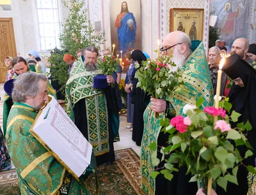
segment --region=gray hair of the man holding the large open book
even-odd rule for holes
[[[36,74],[34,72],[23,73],[19,75],[14,82],[12,91],[12,99],[16,102],[26,102],[28,97],[34,97],[38,94],[39,81],[48,80],[44,74]]]

